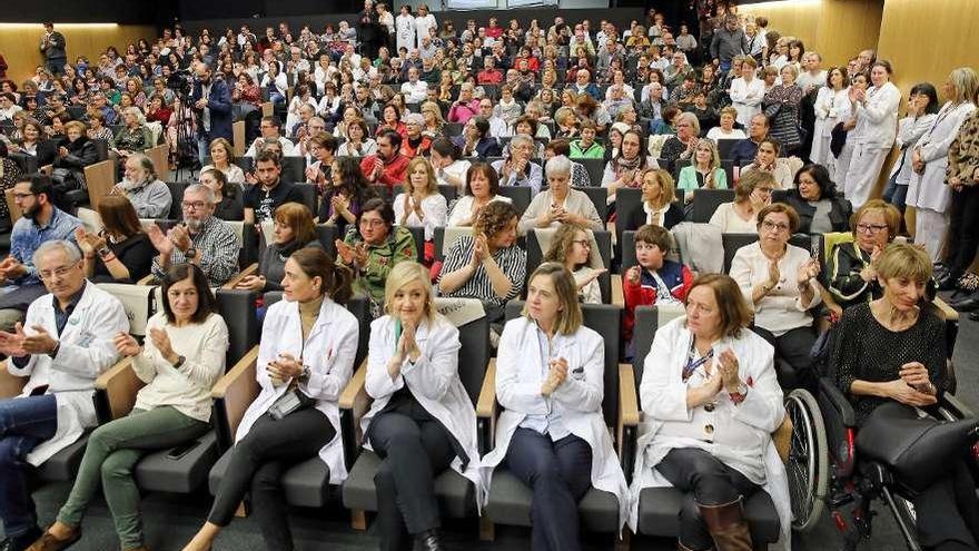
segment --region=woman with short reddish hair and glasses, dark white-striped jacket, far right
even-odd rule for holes
[[[900,210],[880,199],[864,203],[850,217],[853,240],[834,245],[827,259],[829,292],[840,308],[880,298],[883,289],[874,260],[897,237],[900,227]]]

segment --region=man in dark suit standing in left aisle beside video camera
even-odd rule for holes
[[[194,66],[197,77],[194,82],[194,92],[190,102],[197,115],[197,154],[200,164],[209,154],[209,145],[217,138],[234,140],[231,131],[231,90],[221,78],[214,78],[211,68],[207,63],[198,62]]]

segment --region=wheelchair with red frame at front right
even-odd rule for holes
[[[787,365],[779,363],[777,366],[782,378]],[[783,387],[788,391],[791,386]],[[882,501],[893,515],[908,549],[920,551],[912,503],[914,491],[902,484],[883,462],[858,455],[857,416],[850,401],[837,387],[830,368],[821,368],[813,390],[814,394],[805,387],[795,387],[785,395],[785,413],[792,422],[785,461],[792,531],[809,532],[829,510],[837,529],[843,534],[841,548],[853,550],[870,540],[873,518],[879,514],[873,505]],[[975,417],[950,393],[928,413],[945,421]],[[976,478],[979,473],[976,452],[977,447],[973,447],[973,461],[969,466],[973,479],[979,480]]]

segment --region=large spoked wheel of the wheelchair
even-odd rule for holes
[[[792,501],[792,530],[808,532],[815,527],[825,503],[829,476],[825,426],[815,397],[795,388],[785,399],[785,412],[792,421],[792,444],[785,470]]]

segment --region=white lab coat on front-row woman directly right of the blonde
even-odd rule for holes
[[[541,357],[535,336],[536,324],[525,316],[507,322],[500,336],[496,356],[496,399],[503,411],[496,420],[496,446],[483,457],[483,473],[488,488],[493,470],[506,459],[510,440],[527,414],[547,414],[561,410],[561,422],[592,449],[592,486],[619,500],[619,525],[626,519],[629,485],[612,436],[602,414],[605,376],[605,343],[587,327],[571,335],[554,335],[553,357],[567,361],[567,378],[551,397],[541,395],[546,377],[547,358]],[[575,373],[576,370],[582,370]]]

